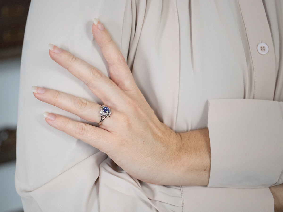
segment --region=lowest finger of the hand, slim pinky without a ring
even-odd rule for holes
[[[99,127],[74,121],[59,114],[45,112],[44,117],[46,122],[55,129],[59,129],[60,131],[105,152],[106,145],[110,141],[110,132]]]

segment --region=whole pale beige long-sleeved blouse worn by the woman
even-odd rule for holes
[[[281,1],[259,0],[32,0],[15,176],[24,210],[273,211],[268,187],[283,183],[282,11]],[[53,43],[110,76],[91,33],[95,17],[161,122],[175,131],[209,127],[209,187],[144,183],[45,122],[48,111],[89,123],[38,101],[33,85],[102,104],[50,59],[47,47]],[[256,55],[260,42],[267,55]]]

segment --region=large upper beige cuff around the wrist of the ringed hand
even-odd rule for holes
[[[257,99],[209,100],[210,187],[260,188],[283,169],[283,104]]]

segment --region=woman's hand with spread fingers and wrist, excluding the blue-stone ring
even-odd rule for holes
[[[46,122],[98,148],[127,173],[142,181],[166,185],[207,185],[210,159],[206,159],[205,163],[201,159],[192,159],[201,155],[192,153],[194,148],[187,140],[190,137],[175,133],[158,120],[108,31],[96,21],[92,32],[108,62],[111,79],[57,46],[50,45],[49,54],[55,62],[82,80],[112,110],[112,114],[103,120],[100,127],[51,113],[45,113]],[[101,120],[101,105],[94,102],[36,86],[33,86],[33,91],[37,99],[87,121],[99,123]],[[207,130],[203,133],[208,135]],[[191,136],[201,137],[200,134]]]

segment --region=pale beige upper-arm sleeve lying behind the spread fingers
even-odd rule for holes
[[[98,18],[127,57],[130,1],[31,1],[23,42],[17,128],[15,183],[25,211],[98,211],[98,149],[48,126],[43,113],[78,116],[37,100],[33,85],[100,103],[76,77],[48,55],[53,43],[108,76],[108,66],[91,33]],[[57,208],[56,208],[57,207]]]

